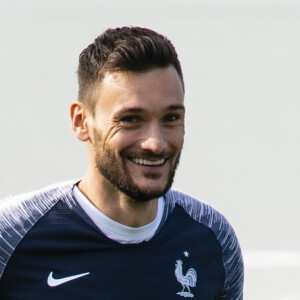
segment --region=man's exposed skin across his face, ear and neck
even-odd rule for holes
[[[73,132],[86,142],[88,154],[88,168],[78,187],[109,218],[131,227],[146,225],[157,213],[158,195],[151,195],[164,194],[184,141],[181,80],[172,66],[108,73],[94,94],[94,114],[81,102],[70,108]],[[103,176],[98,163],[108,153],[113,160],[108,158],[107,164],[151,201],[130,197]],[[149,161],[157,165],[145,165]]]

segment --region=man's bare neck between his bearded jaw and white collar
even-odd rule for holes
[[[157,199],[137,202],[119,191],[98,172],[87,172],[78,188],[102,213],[123,225],[141,227],[156,217]]]

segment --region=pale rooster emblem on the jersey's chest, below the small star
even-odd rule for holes
[[[177,281],[182,285],[182,291],[177,295],[185,298],[193,298],[194,294],[191,293],[190,287],[195,287],[197,282],[196,270],[190,268],[185,275],[182,274],[182,260],[177,260],[175,264],[175,276]],[[187,289],[187,291],[185,291]]]

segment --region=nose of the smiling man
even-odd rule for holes
[[[167,142],[160,125],[149,125],[144,134],[145,136],[141,143],[141,148],[143,150],[150,150],[155,154],[160,154],[167,149]]]

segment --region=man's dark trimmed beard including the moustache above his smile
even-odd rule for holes
[[[117,157],[112,149],[107,145],[103,145],[101,141],[101,136],[96,130],[94,130],[94,151],[95,151],[95,165],[101,175],[106,178],[115,188],[130,197],[136,202],[147,202],[152,199],[163,196],[171,188],[175,176],[177,166],[179,164],[181,150],[177,154],[173,165],[171,165],[167,182],[163,189],[147,189],[140,188],[134,183],[129,170],[126,168],[125,160],[127,157],[142,157],[144,159],[163,159],[168,157],[168,160],[174,159],[175,153],[161,153],[159,155],[152,153],[149,150],[143,150],[137,153],[128,153],[124,150],[120,153],[120,157]],[[121,158],[121,159],[120,159]],[[166,163],[166,162],[165,162]],[[153,174],[145,175],[147,178],[156,179]]]

